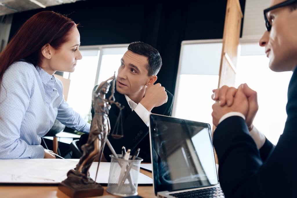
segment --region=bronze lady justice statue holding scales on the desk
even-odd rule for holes
[[[69,170],[67,179],[59,184],[59,189],[70,197],[98,196],[103,194],[103,188],[99,183],[96,183],[89,177],[89,168],[92,162],[99,154],[99,163],[102,158],[103,149],[110,133],[110,123],[108,113],[112,104],[115,104],[120,110],[124,107],[120,103],[115,102],[115,75],[99,84],[92,95],[92,105],[95,109],[92,119],[89,138],[86,144],[81,149],[83,155],[80,158],[75,170]],[[110,88],[110,82],[113,80],[111,95],[108,99],[105,95]],[[97,170],[98,172],[98,170]],[[97,176],[97,175],[96,175]]]

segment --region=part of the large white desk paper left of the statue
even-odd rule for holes
[[[59,183],[76,164],[67,159],[1,159],[0,183]]]

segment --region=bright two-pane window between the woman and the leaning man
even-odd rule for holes
[[[83,56],[78,60],[75,71],[64,72],[63,77],[70,79],[68,93],[69,106],[89,121],[92,90],[94,85],[113,76],[118,71],[120,60],[127,51],[128,44],[81,46]]]

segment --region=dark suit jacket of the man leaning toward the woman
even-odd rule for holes
[[[94,89],[97,86],[94,87]],[[168,101],[167,103],[153,108],[151,111],[154,114],[161,114],[166,116],[171,116],[172,104],[173,104],[173,95],[168,92]],[[108,98],[111,94],[111,89],[108,94],[106,94],[106,98]],[[108,140],[113,146],[114,150],[117,154],[121,154],[122,146],[125,146],[126,149],[131,149],[132,155],[135,150],[140,148],[139,157],[143,158],[143,162],[151,162],[151,154],[150,154],[150,142],[149,142],[149,127],[144,124],[142,119],[132,111],[129,107],[125,95],[120,94],[115,90],[114,94],[116,101],[124,105],[125,108],[122,110],[122,119],[123,119],[123,131],[124,137],[121,139],[113,139],[110,135]],[[93,108],[91,109],[92,117],[94,114]],[[113,128],[116,124],[116,119],[119,115],[119,108],[115,105],[112,105],[109,111],[109,121],[110,121],[110,132],[113,131]],[[120,132],[120,130],[119,130]],[[108,146],[106,145],[104,148],[104,156],[110,161],[109,155],[112,154]]]

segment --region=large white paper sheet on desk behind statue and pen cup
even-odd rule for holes
[[[78,160],[69,159],[0,159],[0,183],[57,184],[67,178]],[[90,167],[90,177],[95,179],[98,162]],[[97,183],[108,183],[110,163],[100,162]],[[152,179],[142,173],[139,184],[152,184]]]

